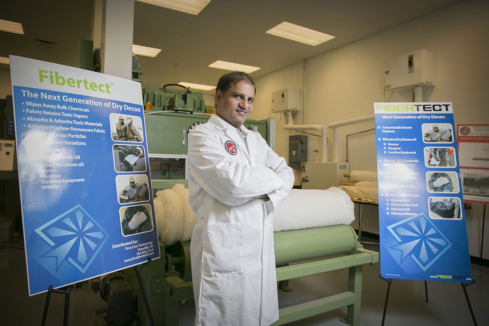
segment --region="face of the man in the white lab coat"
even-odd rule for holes
[[[231,126],[240,129],[249,114],[253,111],[255,87],[240,81],[231,84],[228,90],[216,92],[216,114]]]

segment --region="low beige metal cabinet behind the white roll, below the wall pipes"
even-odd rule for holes
[[[302,162],[302,189],[328,189],[348,181],[348,162]]]

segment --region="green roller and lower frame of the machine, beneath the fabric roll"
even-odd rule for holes
[[[364,249],[357,241],[355,230],[349,225],[335,225],[312,229],[274,233],[275,259],[278,266],[277,281],[348,268],[348,291],[311,302],[279,310],[283,325],[323,312],[347,306],[347,325],[360,326],[362,265],[378,262],[378,252]],[[151,307],[155,325],[177,326],[178,303],[193,298],[190,271],[190,241],[177,242],[165,247],[160,244],[164,257],[152,261],[141,276]],[[334,255],[333,257],[331,257]],[[341,255],[339,257],[336,257]],[[318,259],[319,258],[319,259]],[[302,263],[291,262],[318,259]],[[124,271],[137,295],[141,325],[151,325],[145,313],[142,293],[132,268]]]

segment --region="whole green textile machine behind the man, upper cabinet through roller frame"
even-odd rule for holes
[[[172,92],[177,91],[167,92],[173,94]],[[144,100],[145,105],[146,101],[150,100],[156,103],[155,98],[149,94]],[[193,103],[194,106],[202,108],[200,102]],[[195,107],[192,108],[192,112],[193,114],[167,111],[164,110],[164,105],[160,108],[154,106],[152,111],[145,111],[154,194],[157,190],[172,188],[177,183],[188,187],[187,134],[195,125],[205,123],[209,118],[209,115],[198,112]],[[248,129],[260,132],[265,139],[268,138],[267,122],[248,120],[244,125]],[[279,311],[280,319],[274,325],[282,325],[343,306],[348,306],[346,323],[360,325],[362,264],[378,262],[378,252],[364,249],[357,242],[355,231],[348,225],[276,232],[274,241],[277,281],[280,281],[281,285],[287,285],[287,280],[302,276],[349,269],[348,291],[282,308]],[[193,300],[190,241],[177,242],[168,247],[160,243],[160,252],[161,258],[150,262],[140,273],[155,325],[177,326],[178,303]],[[314,261],[302,262],[312,259]],[[294,264],[290,264],[292,262]],[[151,325],[133,268],[123,272],[137,297],[135,306],[140,325]]]

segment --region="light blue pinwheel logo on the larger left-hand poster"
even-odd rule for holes
[[[84,274],[109,238],[80,205],[45,223],[35,232],[51,247],[40,257],[54,257],[56,272],[68,262]]]

